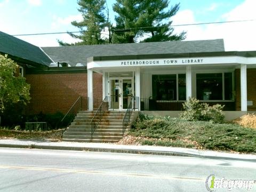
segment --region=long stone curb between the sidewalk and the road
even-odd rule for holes
[[[116,149],[116,148],[95,148],[95,147],[70,147],[70,146],[46,146],[46,145],[17,145],[17,144],[3,144],[0,147],[10,148],[30,148],[30,149],[53,149],[53,150],[75,150],[75,151],[92,151],[92,152],[107,152],[107,153],[126,153],[126,154],[143,154],[143,155],[165,155],[165,156],[181,156],[181,157],[197,157],[197,158],[211,158],[211,159],[226,159],[236,161],[256,162],[255,159],[210,156],[203,154],[190,154],[174,151],[156,151],[156,150],[142,150],[142,149]]]

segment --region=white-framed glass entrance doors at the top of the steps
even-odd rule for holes
[[[109,81],[110,109],[125,110],[133,95],[132,77],[111,77]]]

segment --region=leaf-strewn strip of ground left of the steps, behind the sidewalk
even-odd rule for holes
[[[58,141],[61,139],[61,130],[29,132],[0,128],[0,139],[48,139],[51,141]]]

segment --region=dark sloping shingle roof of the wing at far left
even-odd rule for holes
[[[52,62],[40,47],[0,31],[0,52],[49,66]]]

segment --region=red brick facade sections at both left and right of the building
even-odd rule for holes
[[[247,69],[248,111],[256,110],[256,69]],[[79,96],[87,97],[87,74],[27,74],[31,85],[27,114],[66,113]],[[102,101],[102,75],[93,73],[94,109]],[[241,110],[240,69],[235,70],[235,110]]]

